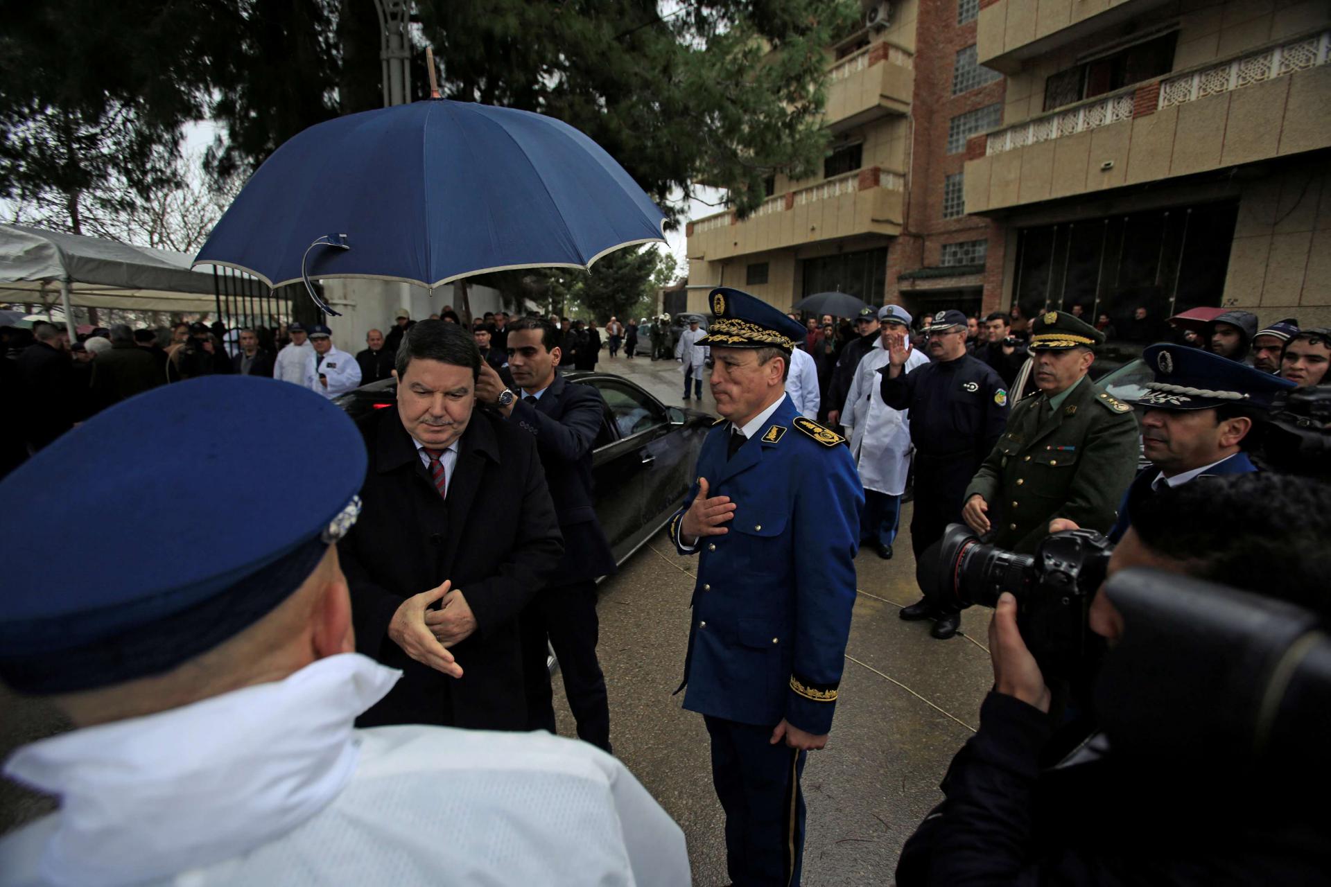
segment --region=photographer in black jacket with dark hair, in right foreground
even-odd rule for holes
[[[1169,488],[1143,503],[1107,574],[1149,568],[1225,582],[1307,608],[1324,625],[1331,614],[1328,536],[1331,487],[1280,475],[1222,477]],[[1280,565],[1278,581],[1272,564]],[[1057,766],[1042,767],[1053,734],[1045,713],[1049,690],[1017,629],[1017,609],[1012,594],[998,598],[989,628],[994,689],[981,706],[980,730],[944,779],[946,799],[902,848],[898,884],[1328,883],[1326,805],[1303,781],[1263,778],[1271,761],[1236,755],[1218,766],[1217,747],[1227,735],[1211,735],[1213,743],[1185,755],[1115,753],[1107,738],[1114,725],[1106,721],[1106,734],[1093,734]],[[1089,628],[1111,648],[1133,630],[1103,590],[1090,606]],[[1202,644],[1186,632],[1177,637]],[[1118,665],[1115,656],[1129,654],[1123,646],[1110,652],[1105,673]],[[1158,681],[1137,688],[1139,697],[1115,689],[1117,696],[1097,698],[1137,709],[1138,721],[1154,718],[1162,735],[1181,719],[1226,722]],[[1251,698],[1248,690],[1230,688],[1235,697]],[[1138,699],[1150,697],[1167,703],[1141,710]],[[1314,761],[1279,765],[1318,769]]]

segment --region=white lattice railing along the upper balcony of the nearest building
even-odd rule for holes
[[[1250,52],[1159,81],[1158,108],[1242,89],[1274,77],[1307,70],[1331,59],[1331,31],[1303,37],[1278,47]],[[1150,84],[1137,84],[1117,93],[1097,96],[1077,105],[1028,120],[989,133],[985,154],[993,157],[1028,145],[1038,145],[1065,136],[1075,136],[1099,126],[1131,120],[1134,96]]]

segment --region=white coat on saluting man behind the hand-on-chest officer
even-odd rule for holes
[[[909,347],[909,343],[906,343]],[[906,355],[905,371],[929,363],[917,348]],[[851,452],[860,469],[860,483],[889,496],[900,496],[910,473],[910,418],[906,410],[893,410],[882,402],[882,376],[878,368],[888,366],[888,350],[882,336],[860,359],[851,382],[851,392],[841,410],[841,424],[849,430]]]

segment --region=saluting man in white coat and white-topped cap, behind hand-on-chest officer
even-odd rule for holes
[[[860,515],[860,543],[873,545],[878,557],[892,557],[901,517],[901,493],[910,473],[910,422],[908,411],[882,402],[878,368],[888,363],[888,343],[906,347],[905,371],[929,363],[910,347],[910,315],[898,305],[878,311],[878,338],[856,367],[851,392],[841,410],[841,424],[851,438],[851,452],[864,484],[864,512]]]

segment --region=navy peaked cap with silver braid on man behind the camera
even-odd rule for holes
[[[1155,378],[1131,402],[1151,410],[1213,410],[1225,404],[1268,410],[1276,394],[1298,387],[1186,344],[1153,344],[1142,352],[1142,360]]]

